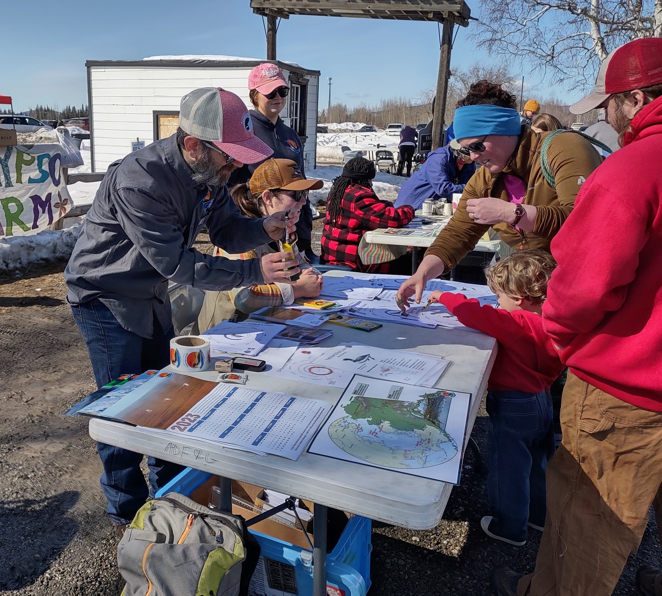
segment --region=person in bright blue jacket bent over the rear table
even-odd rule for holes
[[[395,206],[420,209],[426,198],[453,198],[453,192],[462,192],[475,171],[476,164],[453,140],[428,153],[420,169],[402,185]]]

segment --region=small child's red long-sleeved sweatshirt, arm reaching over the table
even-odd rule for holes
[[[439,302],[463,325],[498,341],[495,365],[487,382],[489,391],[538,393],[549,387],[565,368],[539,314],[481,306],[475,298],[451,292],[444,292]]]

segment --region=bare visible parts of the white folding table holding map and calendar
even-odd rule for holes
[[[345,275],[344,271],[326,273],[326,277]],[[352,277],[371,276],[355,273]],[[383,323],[381,328],[369,333],[330,323],[324,323],[324,327],[331,329],[334,335],[320,343],[321,347],[359,341],[375,347],[428,353],[451,361],[436,387],[471,394],[465,435],[469,437],[495,362],[495,339],[467,329],[428,329],[396,323]],[[212,370],[191,376],[213,381],[218,373]],[[336,404],[343,393],[343,388],[266,376],[261,372],[248,372],[248,376],[246,386],[250,388],[286,392],[329,404]],[[99,418],[91,419],[89,434],[101,443],[312,501],[315,503],[314,527],[318,529],[326,528],[327,507],[412,530],[430,529],[442,519],[453,486],[308,452],[303,452],[296,461],[250,454]],[[230,490],[229,482],[221,484]],[[326,532],[314,532],[314,596],[326,595],[326,536],[323,534]]]

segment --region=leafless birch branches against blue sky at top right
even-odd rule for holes
[[[482,0],[476,26],[489,52],[576,89],[618,46],[662,37],[662,0]]]

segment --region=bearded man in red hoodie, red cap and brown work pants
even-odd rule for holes
[[[569,366],[563,443],[547,466],[536,570],[495,570],[502,595],[608,596],[651,504],[662,529],[661,38],[606,58],[571,111],[597,107],[622,149],[577,181],[575,209],[551,243],[558,267],[543,318]],[[639,593],[662,595],[660,573],[640,568]]]

